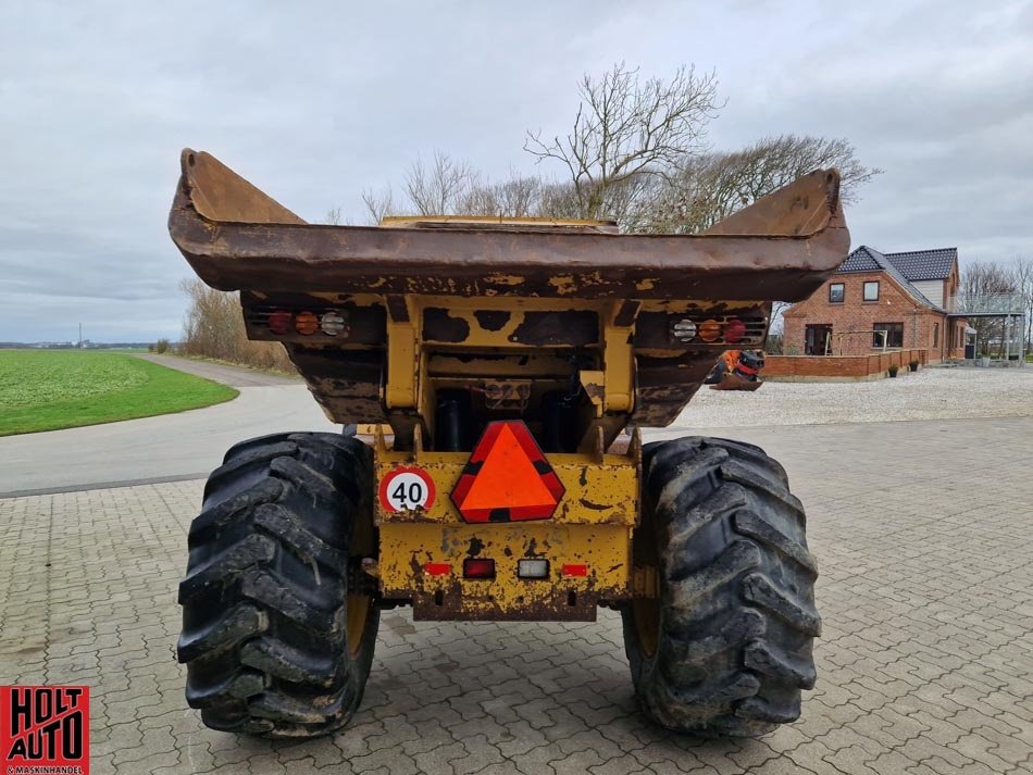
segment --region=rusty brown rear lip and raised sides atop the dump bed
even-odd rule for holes
[[[221,290],[799,301],[849,247],[835,171],[686,236],[312,225],[208,153],[185,150],[182,165],[170,232]]]

